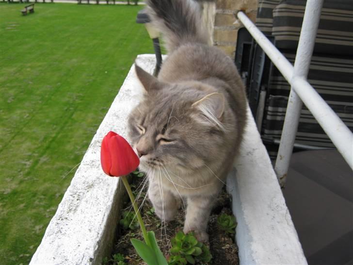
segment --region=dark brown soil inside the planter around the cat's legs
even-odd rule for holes
[[[131,187],[132,190],[134,190],[135,187],[138,187],[142,181],[143,178],[134,177]],[[160,250],[168,259],[170,255],[169,249],[171,248],[170,240],[173,236],[175,236],[176,232],[182,231],[183,229],[185,217],[184,209],[180,209],[178,211],[175,220],[162,223],[156,215],[151,213],[151,203],[148,199],[144,200],[145,196],[146,187],[138,199],[138,205],[143,203],[141,215],[144,220],[144,225],[147,231],[155,232]],[[230,200],[230,196],[227,194],[225,189],[223,189],[212,208],[208,228],[209,242],[206,243],[212,255],[212,260],[208,263],[208,265],[239,265],[238,247],[234,242],[234,234],[224,232],[217,225],[218,215],[222,213],[232,214]],[[124,210],[133,211],[129,200],[126,201],[123,211]],[[133,230],[123,230],[122,227],[119,226],[117,230],[117,241],[114,244],[112,255],[117,253],[123,254],[125,256],[125,263],[128,265],[144,265],[144,261],[138,256],[130,243],[131,238],[137,238],[144,241],[139,227]],[[108,262],[108,264],[114,264],[112,259]]]

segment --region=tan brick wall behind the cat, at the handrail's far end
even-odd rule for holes
[[[255,22],[257,0],[217,0],[213,28],[213,45],[234,58],[238,29],[241,23],[235,15],[245,11]]]

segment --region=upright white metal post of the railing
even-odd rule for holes
[[[306,80],[309,72],[311,56],[314,50],[323,0],[306,1],[302,29],[300,32],[297,53],[294,61],[293,78],[302,77]],[[302,100],[290,87],[286,116],[284,119],[281,142],[277,153],[274,171],[282,187],[286,184],[290,157],[293,151],[295,136],[298,131]]]

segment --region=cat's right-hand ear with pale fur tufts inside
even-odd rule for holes
[[[220,120],[225,111],[225,97],[221,93],[210,93],[193,103],[192,107],[197,108],[210,122],[222,127]]]

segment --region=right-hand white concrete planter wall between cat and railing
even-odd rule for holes
[[[306,265],[281,188],[248,108],[241,153],[227,179],[241,265]]]

